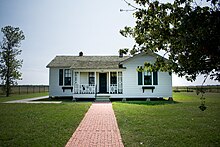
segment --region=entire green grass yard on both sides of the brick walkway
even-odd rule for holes
[[[12,95],[0,100],[36,96],[40,95]],[[173,96],[175,102],[113,103],[126,147],[220,146],[220,94],[205,95],[204,112],[198,108],[200,99],[195,93]],[[64,146],[90,105],[0,103],[0,146]]]

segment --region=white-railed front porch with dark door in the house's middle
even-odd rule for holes
[[[97,94],[122,94],[122,71],[108,72],[73,72],[73,94],[91,95]]]

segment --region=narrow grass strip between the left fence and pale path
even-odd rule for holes
[[[48,92],[43,93],[29,93],[29,94],[12,94],[9,97],[6,97],[5,95],[0,95],[0,102],[6,102],[6,101],[12,101],[12,100],[20,100],[25,98],[34,98],[34,97],[40,97],[40,96],[47,96]]]

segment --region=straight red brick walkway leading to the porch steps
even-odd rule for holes
[[[111,103],[93,103],[66,147],[123,147]]]

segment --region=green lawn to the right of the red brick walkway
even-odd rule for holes
[[[207,93],[205,111],[195,93],[176,103],[121,103],[113,108],[125,146],[220,146],[220,94]]]

